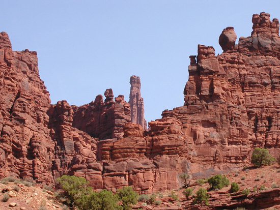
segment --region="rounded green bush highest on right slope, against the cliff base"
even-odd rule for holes
[[[251,163],[255,167],[261,167],[262,165],[271,165],[274,158],[269,154],[265,148],[255,148],[251,157]]]

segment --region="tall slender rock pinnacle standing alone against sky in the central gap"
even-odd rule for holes
[[[131,123],[141,125],[145,130],[147,129],[147,122],[144,118],[144,99],[141,98],[141,82],[140,77],[130,77],[130,94],[129,104],[131,110]]]

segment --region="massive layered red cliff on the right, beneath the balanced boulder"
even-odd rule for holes
[[[198,62],[189,66],[185,107],[163,112],[163,117],[173,115],[182,123],[197,153],[193,158],[202,165],[226,169],[245,163],[256,146],[278,151],[277,22],[266,13],[253,15],[252,35],[221,55],[199,45]]]

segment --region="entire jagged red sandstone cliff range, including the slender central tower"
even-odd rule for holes
[[[8,35],[1,33],[0,176],[52,184],[62,174],[74,174],[86,177],[94,189],[133,186],[151,193],[179,188],[184,172],[199,178],[243,167],[255,147],[276,157],[279,23],[267,13],[254,14],[252,22],[253,32],[238,43],[233,27],[223,29],[220,55],[198,45],[198,54],[190,56],[184,105],[164,110],[149,131],[141,124],[137,77],[130,79],[132,105],[122,95],[114,101],[111,89],[105,100],[98,95],[80,107],[66,101],[51,105],[37,53],[13,52]]]

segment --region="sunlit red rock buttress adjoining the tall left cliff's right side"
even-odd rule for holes
[[[54,142],[52,175],[85,177],[92,187],[102,189],[102,166],[96,161],[97,139],[72,127],[73,113],[66,101],[59,101],[48,110],[48,127]]]

